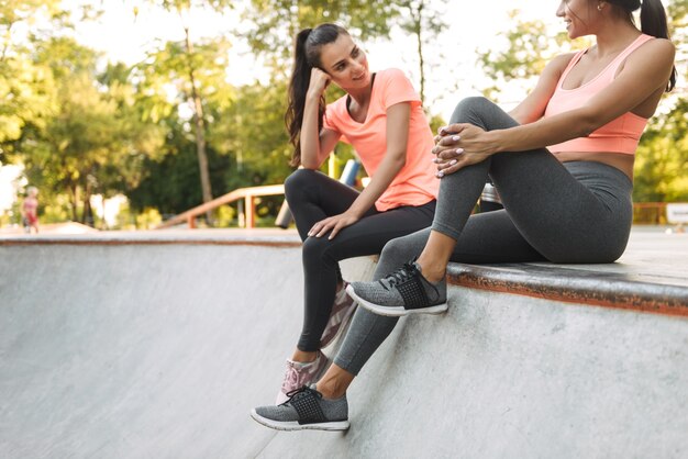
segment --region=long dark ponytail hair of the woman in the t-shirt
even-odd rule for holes
[[[306,93],[311,82],[311,69],[322,69],[320,61],[320,48],[323,45],[334,43],[342,34],[348,35],[344,27],[336,24],[324,23],[315,29],[303,29],[296,36],[293,53],[293,70],[289,79],[289,96],[285,124],[289,131],[289,142],[293,145],[291,166],[301,164],[301,123],[303,122],[303,109]],[[322,130],[322,119],[325,113],[325,97],[321,97],[318,107],[318,131]]]

